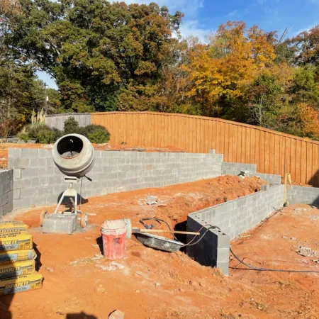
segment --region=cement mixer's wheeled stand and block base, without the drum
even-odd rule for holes
[[[82,215],[80,225],[82,228],[86,227],[88,223],[87,214],[77,209],[77,191],[73,188],[73,184],[78,182],[79,179],[77,177],[66,176],[65,183],[69,184],[69,188],[63,192],[54,213],[48,214],[46,210],[40,213],[40,225],[43,226],[43,233],[72,234],[75,228],[77,228],[79,213]],[[65,197],[69,197],[73,208],[71,211],[59,212],[59,208]]]

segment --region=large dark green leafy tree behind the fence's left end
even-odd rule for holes
[[[21,10],[11,45],[56,79],[66,110],[132,109],[137,96],[148,108],[156,103],[181,13],[104,0],[21,0]]]

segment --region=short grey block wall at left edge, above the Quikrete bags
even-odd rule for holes
[[[13,209],[13,170],[0,170],[0,216]]]

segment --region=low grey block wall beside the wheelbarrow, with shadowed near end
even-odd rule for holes
[[[224,274],[228,274],[228,254],[225,240],[233,240],[250,228],[254,228],[260,221],[267,218],[276,208],[281,208],[284,202],[284,186],[266,186],[264,191],[243,196],[233,201],[205,208],[201,211],[190,213],[187,217],[187,226],[191,231],[198,231],[203,225],[216,225],[221,232],[209,230],[214,233],[212,237],[205,236],[203,242],[194,247],[186,248],[187,254],[198,262],[221,267]],[[206,226],[207,228],[207,226]],[[216,241],[223,242],[222,247]],[[207,252],[210,252],[207,254]],[[218,266],[219,265],[219,266]]]

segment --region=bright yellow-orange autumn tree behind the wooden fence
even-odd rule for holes
[[[257,26],[242,21],[221,24],[207,45],[196,45],[184,66],[191,82],[187,95],[201,103],[206,116],[218,103],[245,95],[245,87],[274,64],[274,47]],[[218,114],[217,114],[218,115]]]

